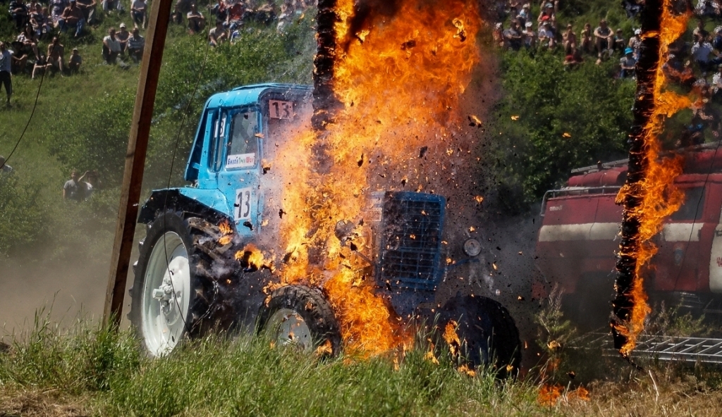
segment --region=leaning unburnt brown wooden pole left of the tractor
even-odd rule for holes
[[[126,152],[126,167],[123,171],[116,240],[113,242],[108,289],[105,291],[103,321],[106,325],[113,324],[116,327],[121,322],[121,312],[123,312],[123,295],[126,290],[128,265],[133,249],[145,154],[148,149],[148,135],[153,117],[160,64],[163,58],[165,34],[168,32],[170,6],[171,0],[154,0],[150,8],[150,22],[138,80],[133,123],[128,139],[128,152]]]

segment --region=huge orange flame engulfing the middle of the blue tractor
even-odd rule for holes
[[[367,284],[373,279],[363,279],[364,261],[334,237],[334,227],[363,224],[374,191],[407,183],[412,190],[432,188],[428,173],[409,164],[421,148],[439,157],[430,169],[451,170],[440,156],[461,128],[458,97],[480,59],[475,39],[481,22],[475,2],[463,0],[408,0],[396,18],[372,16],[356,33],[350,32],[355,2],[339,0],[336,13],[334,92],[342,108],[323,139],[308,129],[279,149],[287,184],[280,274],[283,283],[323,286],[347,348],[376,355],[412,338]],[[322,174],[310,168],[319,158],[331,165]]]

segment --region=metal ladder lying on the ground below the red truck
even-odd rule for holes
[[[606,355],[619,355],[609,333],[587,333],[574,343],[578,348],[602,348]],[[584,346],[582,346],[584,345]],[[722,364],[722,339],[641,335],[632,359]]]

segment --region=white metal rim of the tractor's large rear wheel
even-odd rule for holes
[[[142,335],[152,356],[170,353],[183,337],[191,294],[188,250],[175,232],[155,243],[144,276]]]

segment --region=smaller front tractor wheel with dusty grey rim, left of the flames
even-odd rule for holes
[[[269,332],[279,346],[334,356],[341,351],[341,331],[321,291],[289,285],[273,291],[258,312],[258,333]]]

